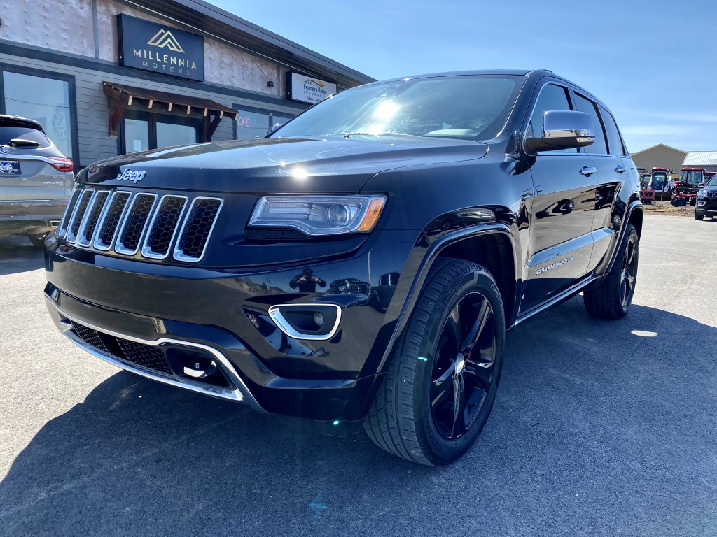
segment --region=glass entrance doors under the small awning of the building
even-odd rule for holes
[[[131,110],[122,121],[120,153],[201,142],[201,120]]]

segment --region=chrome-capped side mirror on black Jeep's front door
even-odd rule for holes
[[[531,152],[554,151],[585,147],[595,142],[595,125],[585,112],[574,110],[550,110],[543,117],[543,133],[540,138],[527,138],[526,147]]]

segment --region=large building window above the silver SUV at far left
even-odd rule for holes
[[[0,112],[38,121],[57,149],[79,165],[75,143],[74,79],[45,77],[34,69],[32,74],[16,72],[14,67],[0,69]]]

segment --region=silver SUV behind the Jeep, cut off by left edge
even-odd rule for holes
[[[35,246],[60,224],[72,192],[72,160],[42,125],[0,115],[0,237],[27,235]]]

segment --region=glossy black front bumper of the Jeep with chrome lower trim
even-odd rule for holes
[[[107,362],[255,410],[313,420],[323,432],[346,434],[361,425],[381,382],[379,362],[396,320],[391,312],[400,310],[389,306],[402,304],[394,293],[397,282],[381,286],[386,281],[381,276],[402,272],[416,238],[415,232],[377,233],[348,258],[310,263],[327,283],[315,292],[289,284],[305,265],[251,272],[168,266],[49,241],[45,297],[58,329]],[[392,255],[374,256],[379,269],[376,261],[370,264],[369,251],[382,248],[390,248]],[[336,293],[328,285],[348,277],[365,281],[366,294]],[[323,341],[294,339],[267,324],[271,306],[292,303],[340,306],[338,332]],[[158,372],[121,352],[103,351],[80,337],[78,324],[101,332],[103,339],[204,352],[214,358],[227,384],[186,377],[174,365]]]

